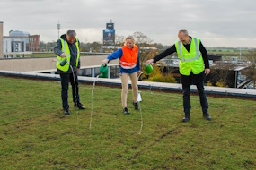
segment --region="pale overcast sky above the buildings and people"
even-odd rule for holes
[[[106,23],[118,36],[142,32],[153,43],[172,46],[186,29],[205,47],[256,47],[255,0],[1,0],[4,36],[10,30],[57,41],[74,29],[81,42],[102,42]]]

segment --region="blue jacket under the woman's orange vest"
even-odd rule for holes
[[[110,62],[111,60],[121,58],[122,55],[123,55],[123,50],[122,50],[122,48],[119,48],[117,51],[110,54],[107,57],[107,59],[109,59],[109,62]],[[119,72],[120,73],[133,73],[133,72],[137,72],[137,71],[140,71],[139,54],[137,54],[137,66],[134,67],[133,69],[124,69],[121,66],[119,66]]]

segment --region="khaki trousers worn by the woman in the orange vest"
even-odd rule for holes
[[[120,75],[122,82],[122,106],[123,108],[127,107],[127,98],[128,98],[128,77],[131,80],[131,88],[133,101],[137,102],[137,72],[134,73],[122,73]]]

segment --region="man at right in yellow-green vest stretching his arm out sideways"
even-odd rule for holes
[[[195,84],[199,91],[200,104],[202,107],[203,117],[210,121],[208,114],[208,102],[204,89],[204,79],[210,73],[207,50],[199,38],[189,36],[187,30],[180,30],[177,41],[172,47],[166,49],[160,55],[154,56],[153,59],[147,60],[146,64],[155,63],[165,56],[176,52],[180,58],[179,69],[181,73],[181,83],[183,91],[183,108],[185,116],[182,122],[190,121],[190,85]]]

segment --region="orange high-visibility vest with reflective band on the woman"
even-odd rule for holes
[[[127,46],[121,47],[123,50],[123,55],[119,59],[119,65],[124,69],[133,69],[137,66],[137,56],[138,50],[137,46],[128,48]]]

